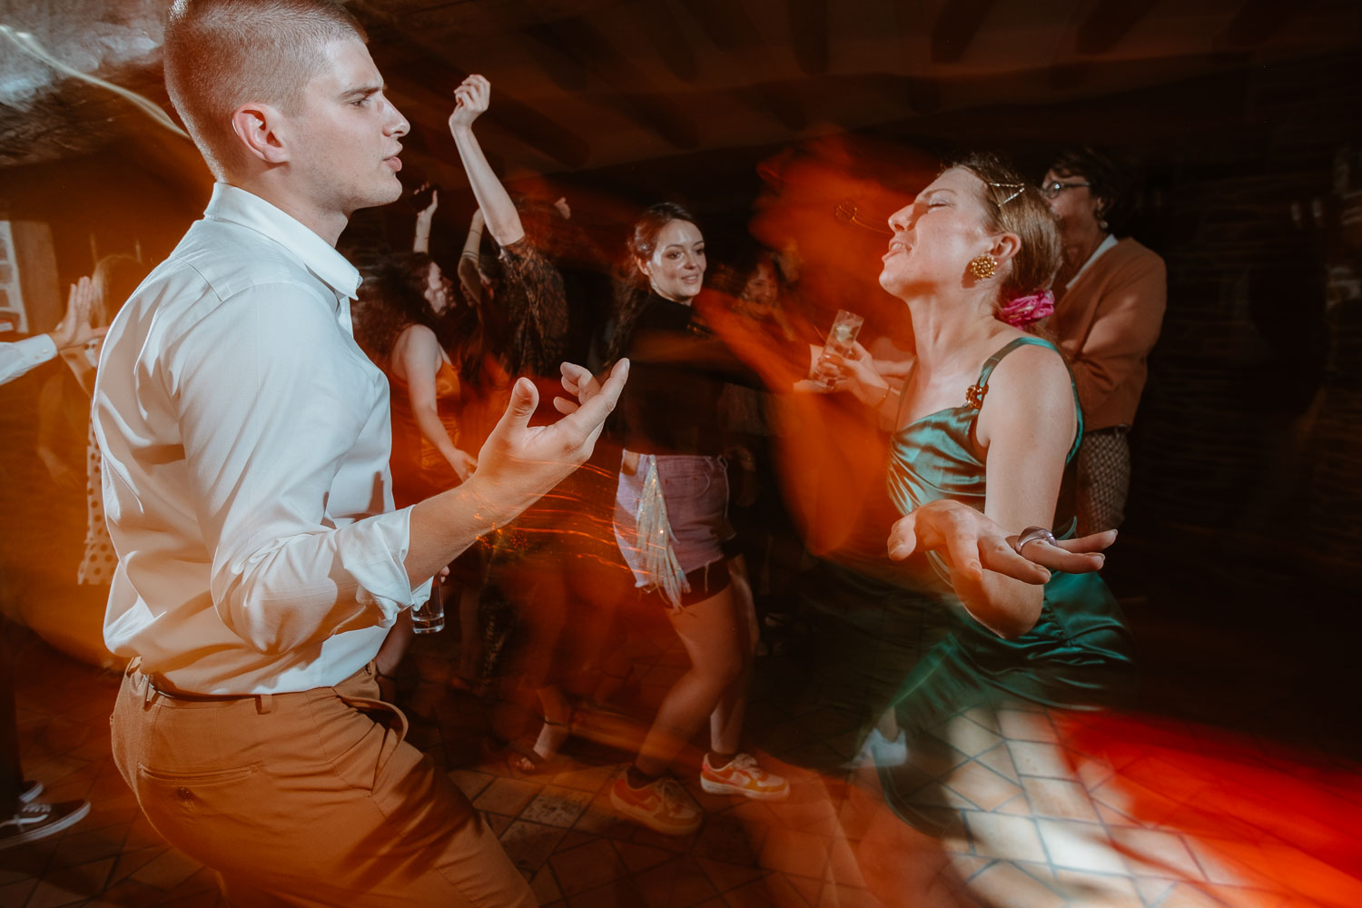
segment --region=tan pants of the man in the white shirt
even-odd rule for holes
[[[113,756],[233,905],[535,904],[467,798],[403,741],[370,667],[335,687],[177,698],[129,666]]]

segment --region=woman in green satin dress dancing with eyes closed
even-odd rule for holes
[[[1017,327],[1045,312],[1058,265],[1045,199],[977,157],[943,172],[889,226],[880,285],[907,305],[915,355],[891,387],[858,351],[844,387],[893,430],[889,493],[906,516],[891,555],[934,547],[917,528],[926,528],[923,513],[943,509],[982,510],[1013,534],[1056,527],[1062,538],[1056,502],[1081,414],[1058,351]],[[1128,696],[1129,632],[1095,573],[1056,572],[1034,585],[983,569],[978,551],[948,546],[926,558],[953,628],[900,686],[884,723],[889,738],[902,727],[911,751],[928,728],[972,707],[1020,698],[1094,708]],[[921,773],[885,758],[893,749],[873,753],[899,818],[938,832],[907,799]],[[889,877],[902,883],[903,874],[900,866]]]

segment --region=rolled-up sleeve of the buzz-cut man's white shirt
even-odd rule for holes
[[[387,510],[388,408],[335,316],[297,285],[215,306],[162,362],[177,407],[214,607],[249,647],[287,652],[390,626],[424,596],[403,560],[410,509]],[[340,489],[368,505],[342,506]],[[353,497],[353,496],[351,496]]]

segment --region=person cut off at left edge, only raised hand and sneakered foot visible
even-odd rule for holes
[[[93,302],[90,279],[82,278],[79,285],[72,285],[67,312],[56,328],[34,338],[0,343],[0,384],[41,366],[59,351],[82,353],[87,343],[98,340],[105,329],[90,324]],[[0,622],[4,619],[0,618]],[[54,836],[90,813],[89,800],[54,805],[38,800],[42,783],[23,777],[11,672],[10,640],[0,640],[0,849]]]

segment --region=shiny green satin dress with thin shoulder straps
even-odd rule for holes
[[[1009,353],[1027,344],[1054,350],[1041,338],[1009,342],[983,363],[979,381],[970,388],[964,404],[929,414],[893,436],[889,497],[900,512],[908,513],[938,498],[953,498],[983,510],[987,482],[974,441],[975,421],[993,369]],[[1077,452],[1081,437],[1080,412],[1068,460]],[[1068,535],[1072,527],[1065,538]],[[945,564],[934,553],[929,558],[947,581]],[[1054,572],[1045,584],[1041,618],[1031,630],[1012,640],[998,637],[975,621],[948,581],[940,595],[951,611],[951,633],[918,663],[893,701],[910,746],[915,735],[977,705],[1020,698],[1047,707],[1092,709],[1124,702],[1133,693],[1130,632],[1115,598],[1098,574]],[[902,785],[896,783],[895,768],[881,766],[880,775],[891,806],[903,815]]]

